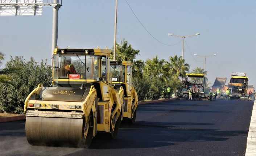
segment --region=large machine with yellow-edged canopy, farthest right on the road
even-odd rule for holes
[[[230,82],[228,83],[228,89],[230,90],[230,99],[249,100],[248,89],[248,77],[243,72],[232,72]],[[223,94],[225,97],[226,94]]]

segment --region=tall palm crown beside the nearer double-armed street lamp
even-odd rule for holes
[[[186,73],[189,72],[189,64],[185,63],[185,59],[182,59],[182,56],[170,56],[169,61],[170,72],[174,77],[183,78],[186,76]]]

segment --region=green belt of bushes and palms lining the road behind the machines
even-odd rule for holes
[[[186,73],[190,71],[189,64],[181,56],[169,56],[168,60],[154,56],[145,62],[137,59],[140,50],[135,50],[128,41],[122,40],[116,44],[116,60],[132,62],[132,82],[135,87],[139,101],[157,100],[162,97],[164,86],[170,86],[171,93],[181,91],[182,82]],[[0,52],[0,113],[22,114],[24,101],[28,94],[42,83],[49,86],[51,83],[51,66],[41,60],[36,62],[33,57],[25,60],[23,56],[11,56],[10,61],[5,64],[2,61],[5,55]],[[113,59],[113,49],[111,51]],[[207,72],[197,67],[193,73]],[[206,87],[210,85],[207,83]]]

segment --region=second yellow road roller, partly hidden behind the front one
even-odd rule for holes
[[[123,118],[130,123],[134,123],[136,120],[138,96],[132,85],[132,63],[130,61],[111,61],[110,64],[113,85],[117,90],[120,90],[120,88],[124,89]]]

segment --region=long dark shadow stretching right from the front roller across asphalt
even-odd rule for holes
[[[192,122],[136,122],[122,123],[117,139],[97,134],[90,148],[152,148],[179,144],[179,142],[226,141],[230,136],[247,136],[248,131],[219,131],[218,129],[186,128],[211,126],[213,123]],[[183,127],[182,127],[183,126]],[[177,142],[177,143],[176,143]]]

